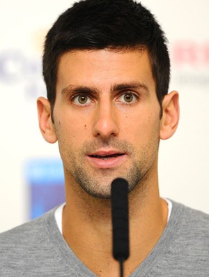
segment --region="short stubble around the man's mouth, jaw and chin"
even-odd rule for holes
[[[88,195],[99,199],[111,198],[111,182],[118,177],[127,180],[129,192],[140,186],[150,167],[153,166],[157,155],[159,147],[158,131],[157,129],[153,141],[144,144],[138,150],[140,153],[137,153],[130,142],[119,140],[116,137],[109,137],[107,140],[96,138],[91,142],[84,142],[82,148],[78,151],[74,145],[68,145],[62,140],[61,135],[59,135],[59,128],[56,128],[65,172],[70,174],[70,180],[73,181],[75,186],[80,186]],[[127,163],[114,169],[96,169],[86,165],[85,156],[87,153],[93,153],[105,147],[127,153]],[[67,185],[70,186],[70,184]]]

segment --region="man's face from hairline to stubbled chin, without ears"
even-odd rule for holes
[[[109,198],[157,172],[160,104],[146,51],[77,50],[61,56],[54,127],[65,179]]]

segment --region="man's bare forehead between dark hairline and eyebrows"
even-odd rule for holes
[[[59,60],[57,89],[70,84],[105,88],[121,82],[155,86],[147,50],[75,50]]]

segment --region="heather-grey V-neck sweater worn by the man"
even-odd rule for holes
[[[96,275],[65,242],[52,210],[0,235],[0,276]],[[173,202],[162,236],[130,276],[209,276],[209,215]]]

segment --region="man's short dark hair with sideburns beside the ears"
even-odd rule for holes
[[[150,10],[133,0],[82,0],[59,16],[47,33],[42,60],[47,98],[56,98],[59,58],[69,50],[147,49],[157,98],[167,94],[170,59],[167,38]]]

